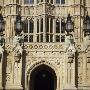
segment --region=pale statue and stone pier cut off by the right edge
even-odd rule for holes
[[[83,40],[83,89],[90,90],[90,35]]]

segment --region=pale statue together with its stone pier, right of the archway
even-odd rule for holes
[[[75,85],[75,46],[72,41],[73,38],[71,36],[66,36],[65,40],[65,77],[66,77],[66,85],[65,89],[68,90],[76,90]]]

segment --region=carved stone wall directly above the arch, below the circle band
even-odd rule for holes
[[[26,57],[26,66],[30,66],[33,63],[39,62],[39,61],[47,61],[54,63],[57,67],[62,67],[64,63],[64,53],[60,52],[28,52],[28,55]]]

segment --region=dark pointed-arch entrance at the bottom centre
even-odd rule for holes
[[[56,74],[49,66],[43,64],[32,71],[29,90],[56,90],[56,86]]]

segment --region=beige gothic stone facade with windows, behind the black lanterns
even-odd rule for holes
[[[90,0],[0,0],[0,10],[5,20],[0,90],[33,90],[33,72],[42,67],[53,73],[54,90],[90,90],[90,40],[83,32]],[[18,13],[26,25],[20,56],[20,48],[12,49]],[[68,44],[62,31],[69,13],[74,22],[74,44]]]

